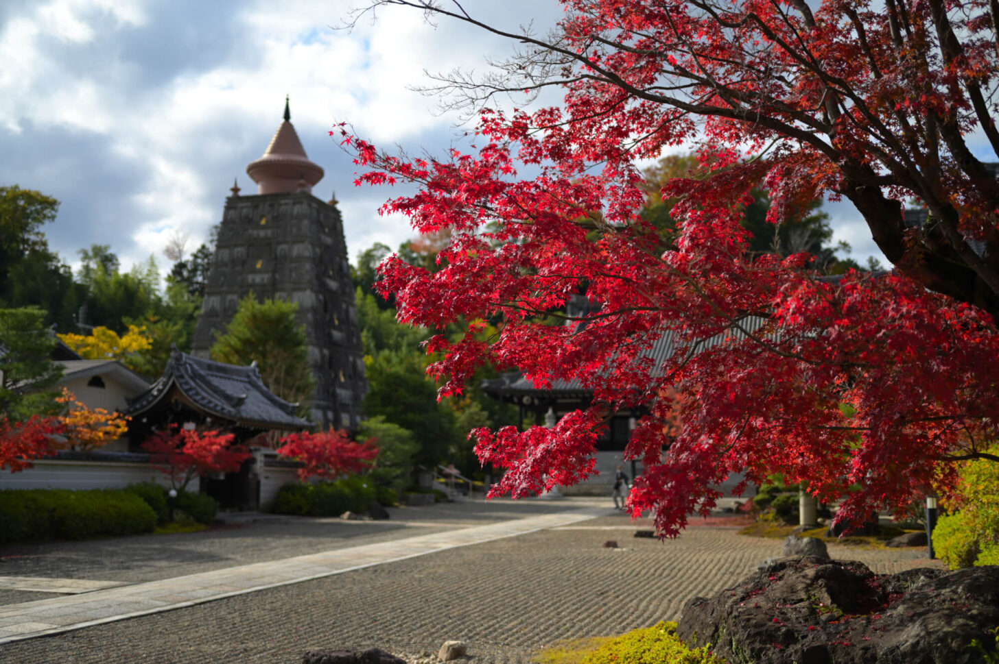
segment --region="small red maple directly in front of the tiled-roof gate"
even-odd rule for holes
[[[153,466],[170,479],[171,487],[184,491],[195,477],[239,472],[253,455],[244,446],[233,445],[233,438],[233,434],[171,425],[153,434],[142,448]]]

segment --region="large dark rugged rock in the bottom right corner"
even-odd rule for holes
[[[782,558],[694,597],[676,629],[731,664],[978,664],[999,625],[999,566],[876,575],[860,562]]]

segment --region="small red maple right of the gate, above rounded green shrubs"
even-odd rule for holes
[[[375,439],[355,443],[346,431],[330,429],[318,433],[302,432],[281,439],[278,455],[305,464],[299,480],[324,478],[336,480],[346,473],[361,473],[378,457]]]

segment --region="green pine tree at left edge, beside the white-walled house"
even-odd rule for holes
[[[38,308],[0,309],[0,414],[22,422],[59,410],[52,391],[62,367],[52,361],[56,336]]]

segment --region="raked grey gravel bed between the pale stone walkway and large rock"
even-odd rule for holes
[[[583,513],[571,500],[543,511],[573,510]],[[636,524],[626,516],[602,507],[596,513],[603,515],[549,520],[553,527],[518,536],[10,642],[0,645],[0,662],[293,664],[309,648],[419,653],[460,638],[470,643],[473,664],[512,664],[559,639],[675,619],[689,597],[734,583],[780,550],[779,541],[731,528],[691,527],[666,542],[634,538]],[[620,548],[604,548],[606,539]],[[915,549],[841,549],[830,552],[878,571],[925,562]]]

